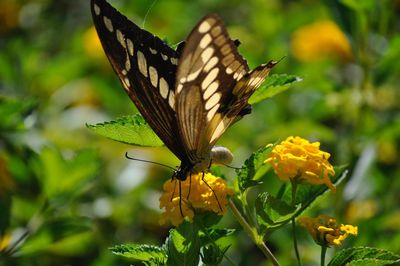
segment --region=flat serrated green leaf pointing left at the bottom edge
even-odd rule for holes
[[[132,258],[140,261],[167,261],[166,250],[153,245],[123,244],[110,248],[112,253],[118,256]]]

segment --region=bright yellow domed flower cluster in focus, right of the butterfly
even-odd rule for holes
[[[335,191],[329,178],[335,174],[328,161],[330,154],[321,151],[319,145],[319,142],[310,143],[300,137],[288,137],[273,148],[265,162],[272,165],[283,181],[325,184]]]

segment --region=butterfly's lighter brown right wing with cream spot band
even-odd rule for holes
[[[262,65],[248,72],[216,15],[206,16],[186,40],[176,76],[176,112],[181,139],[191,162],[202,160],[240,116],[268,74]]]

